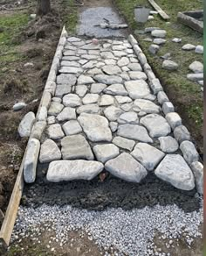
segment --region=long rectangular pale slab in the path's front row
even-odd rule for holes
[[[104,165],[92,160],[58,160],[49,165],[47,181],[90,181],[100,174]]]

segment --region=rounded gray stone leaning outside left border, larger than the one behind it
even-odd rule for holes
[[[27,113],[20,124],[18,125],[18,134],[21,137],[30,137],[32,126],[35,122],[35,115],[33,112]]]

